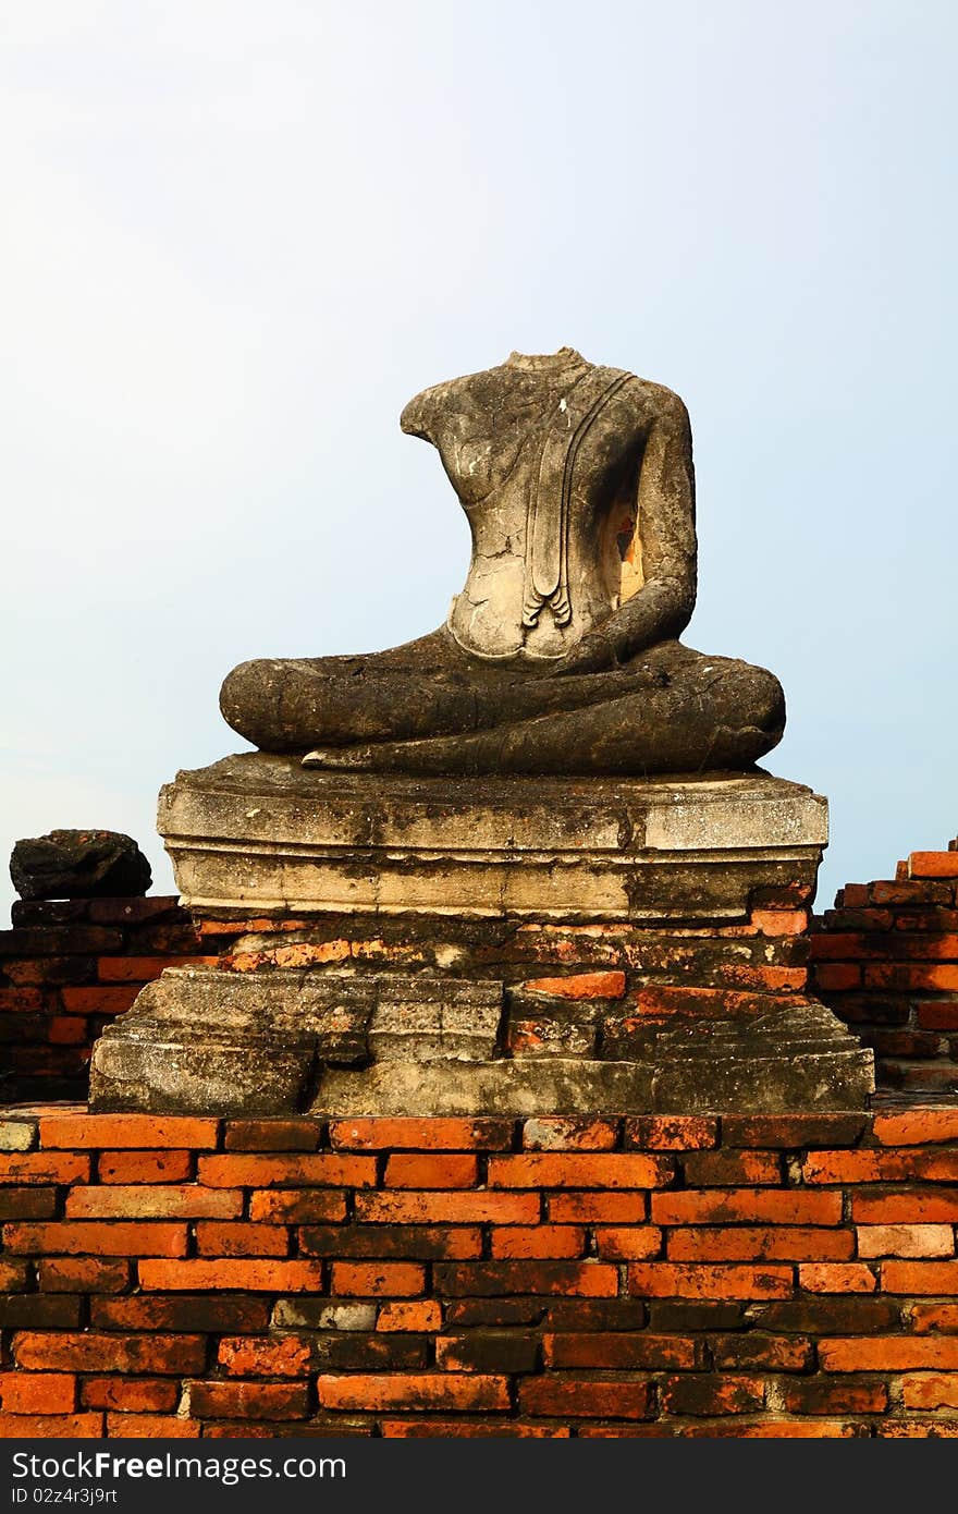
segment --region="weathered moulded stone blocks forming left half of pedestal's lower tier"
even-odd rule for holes
[[[91,1108],[280,1114],[321,1067],[495,1054],[501,983],[168,969],[94,1048]]]

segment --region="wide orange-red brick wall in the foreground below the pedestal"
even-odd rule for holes
[[[958,1108],[0,1143],[6,1435],[958,1437]]]

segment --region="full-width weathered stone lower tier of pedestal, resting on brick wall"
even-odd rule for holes
[[[872,1054],[798,995],[752,995],[752,1013],[731,1020],[690,1008],[631,1039],[604,1031],[598,1051],[602,1001],[536,1001],[533,1020],[530,998],[504,1005],[501,983],[389,972],[170,969],[97,1042],[91,1107],[764,1113],[863,1107],[872,1089]]]

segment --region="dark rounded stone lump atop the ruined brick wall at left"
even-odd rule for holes
[[[92,899],[145,893],[150,863],[121,831],[50,831],[17,842],[11,878],[21,899]]]

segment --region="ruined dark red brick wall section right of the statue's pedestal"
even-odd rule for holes
[[[958,843],[840,889],[813,922],[811,986],[875,1049],[879,1087],[958,1090]]]

